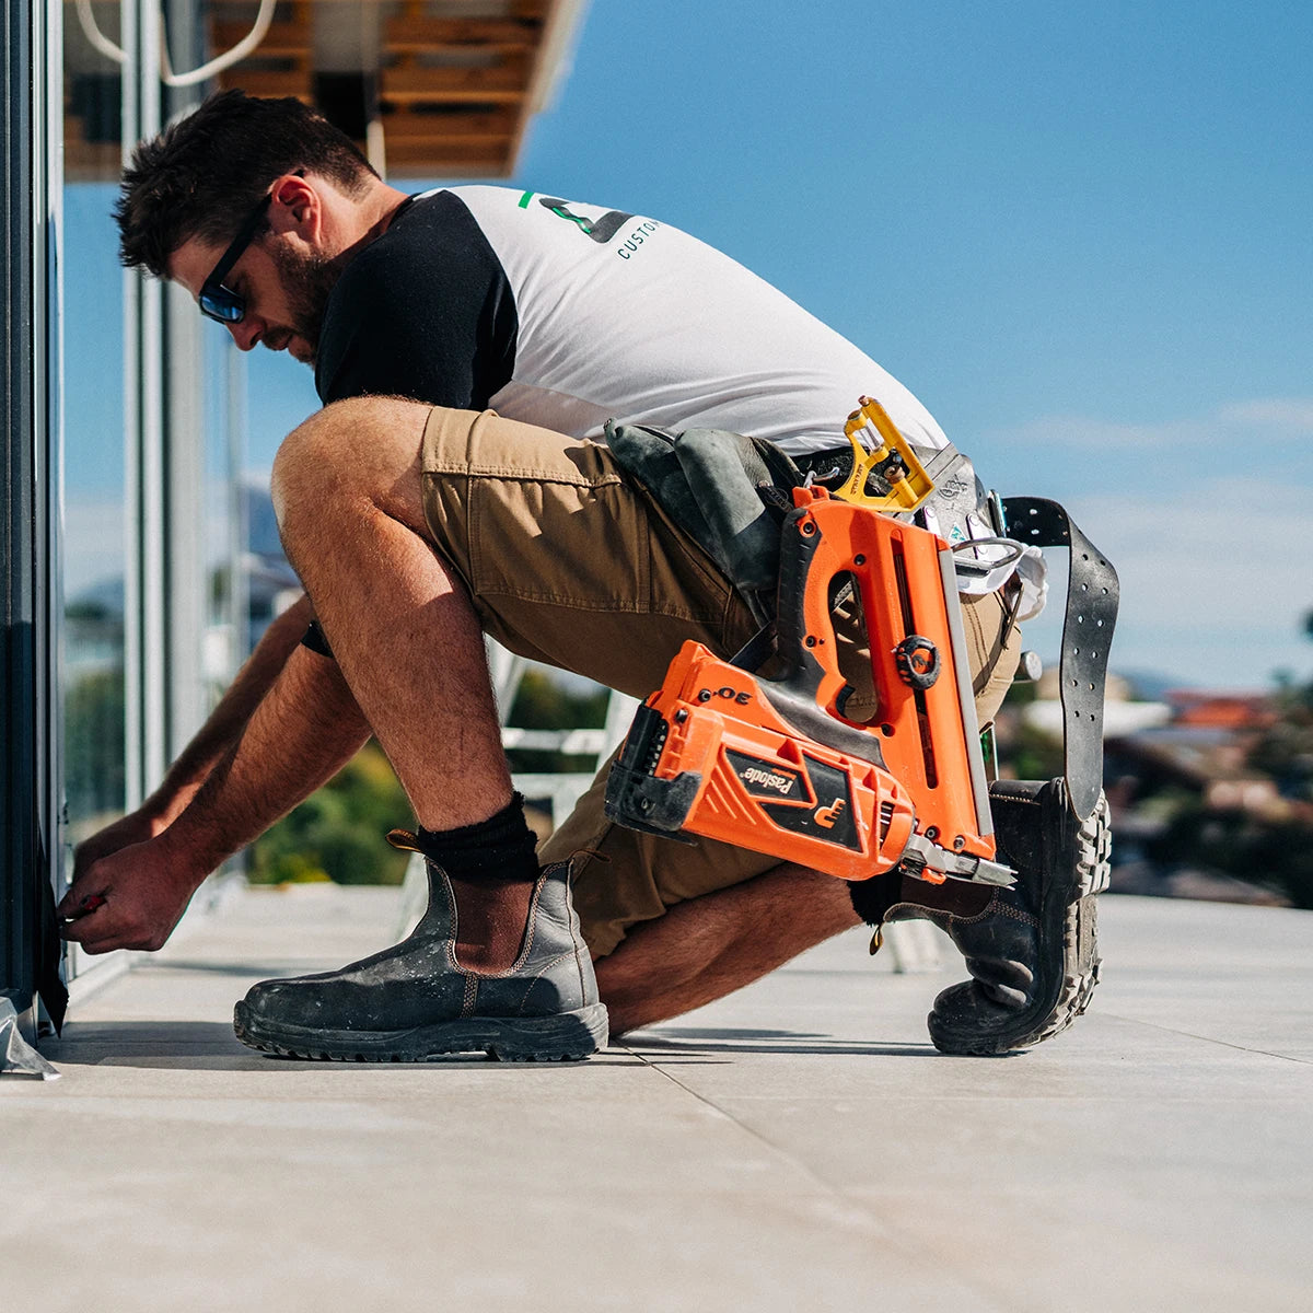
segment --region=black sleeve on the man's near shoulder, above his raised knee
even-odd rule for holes
[[[511,381],[519,323],[502,261],[465,204],[408,205],[347,265],[328,299],[315,387],[483,410]]]

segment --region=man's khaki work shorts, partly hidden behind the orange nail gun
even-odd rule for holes
[[[646,697],[685,639],[729,655],[756,629],[706,553],[601,444],[492,411],[435,408],[421,466],[433,544],[465,582],[484,632],[512,653]],[[983,725],[1012,681],[1020,635],[998,593],[964,603]],[[850,714],[861,705],[861,667],[850,676],[859,688]],[[674,903],[779,864],[709,839],[691,847],[612,825],[601,807],[605,775],[541,852],[544,861],[579,853],[574,901],[595,957]]]

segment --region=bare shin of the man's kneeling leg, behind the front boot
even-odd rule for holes
[[[723,998],[856,924],[842,880],[792,865],[676,903],[596,964],[611,1032]]]

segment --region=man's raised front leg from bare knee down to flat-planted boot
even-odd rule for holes
[[[299,1057],[579,1060],[605,1044],[607,1011],[566,872],[540,869],[511,789],[473,603],[429,541],[429,415],[337,403],[288,439],[273,477],[288,555],[420,819],[429,906],[399,944],[253,985],[232,1027]]]

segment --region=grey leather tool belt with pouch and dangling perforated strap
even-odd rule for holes
[[[737,664],[755,668],[769,650],[780,529],[793,507],[792,490],[809,477],[822,486],[830,483],[827,471],[842,479],[844,457],[851,467],[851,450],[790,458],[772,442],[742,433],[704,428],[676,433],[614,420],[607,421],[605,435],[621,469],[710,555],[763,626],[735,658]],[[987,516],[997,534],[991,541],[1070,548],[1058,674],[1067,793],[1073,810],[1085,819],[1103,786],[1103,691],[1117,616],[1116,571],[1058,503],[1024,496],[999,500],[985,491],[970,462],[951,446],[927,450],[924,462],[936,482],[935,496],[927,503],[935,517],[930,527],[951,546],[955,525],[968,516]],[[923,515],[916,511],[899,517]],[[958,562],[960,574],[964,563]]]

